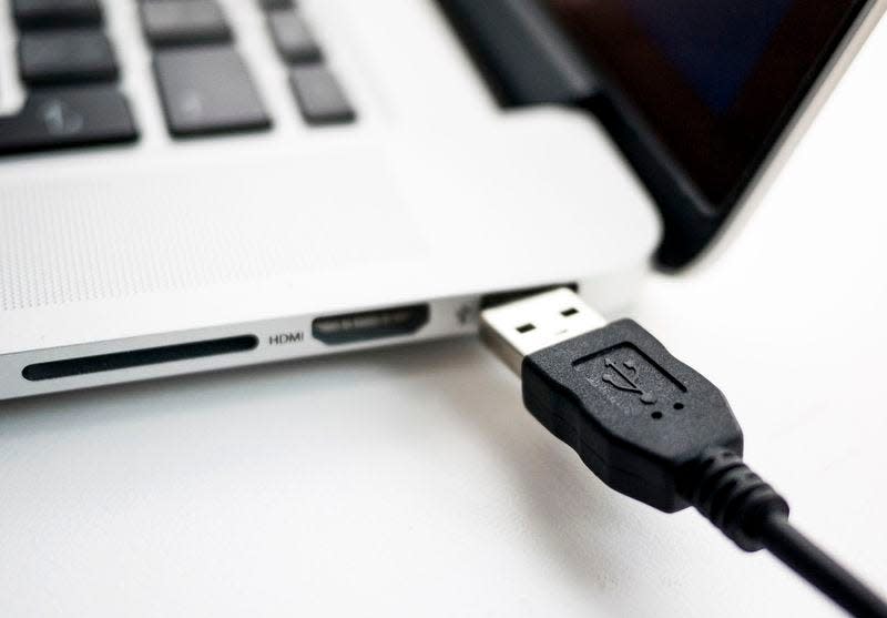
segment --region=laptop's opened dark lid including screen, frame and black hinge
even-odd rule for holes
[[[504,105],[571,103],[604,123],[662,212],[666,269],[700,256],[755,201],[887,6],[440,2]]]

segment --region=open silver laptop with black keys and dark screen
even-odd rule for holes
[[[0,1],[0,398],[615,307],[723,244],[885,7]]]

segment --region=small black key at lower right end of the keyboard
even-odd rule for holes
[[[292,69],[289,84],[308,124],[350,122],[355,119],[354,108],[345,98],[341,87],[323,64]]]

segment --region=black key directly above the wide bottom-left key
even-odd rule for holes
[[[21,37],[19,72],[29,85],[114,81],[118,63],[101,31],[53,30]]]

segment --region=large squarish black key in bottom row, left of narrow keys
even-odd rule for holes
[[[271,126],[246,65],[233,48],[160,51],[154,73],[173,135]]]

